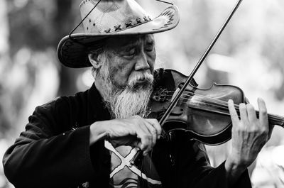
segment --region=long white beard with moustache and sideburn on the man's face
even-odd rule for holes
[[[109,75],[109,62],[104,62],[99,70],[99,77],[103,80],[104,101],[111,111],[112,118],[129,118],[131,116],[146,115],[148,102],[153,89],[153,75],[144,72],[129,80],[124,88],[117,88]],[[146,80],[138,84],[138,80]]]

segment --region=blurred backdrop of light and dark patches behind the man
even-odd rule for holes
[[[170,1],[170,0],[169,0]],[[151,16],[167,5],[138,1]],[[180,24],[155,35],[157,68],[190,74],[236,0],[175,0]],[[80,0],[0,1],[0,157],[19,136],[35,106],[72,95],[93,82],[90,69],[70,69],[58,62],[61,38],[80,22]],[[82,31],[78,28],[77,32]],[[195,79],[244,90],[251,104],[266,101],[268,112],[284,116],[284,1],[245,0],[217,41]],[[226,159],[229,142],[207,147],[212,165]],[[284,129],[271,140],[249,172],[253,187],[284,187]],[[0,187],[13,187],[0,165]]]

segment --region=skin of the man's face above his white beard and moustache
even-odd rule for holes
[[[126,87],[131,79],[135,84],[145,84],[146,73],[153,74],[155,65],[155,41],[153,35],[109,38],[109,75],[117,88]]]

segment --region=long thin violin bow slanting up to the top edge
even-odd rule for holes
[[[204,60],[206,59],[207,55],[209,54],[209,52],[212,50],[214,44],[216,43],[216,41],[218,40],[219,36],[222,34],[222,32],[224,31],[224,28],[226,28],[226,25],[229,23],[229,21],[231,20],[231,17],[234,15],[234,13],[236,12],[236,10],[239,8],[240,4],[241,4],[242,0],[238,0],[238,2],[236,3],[236,5],[234,6],[234,9],[231,11],[231,13],[229,14],[229,16],[226,18],[226,21],[223,23],[223,26],[220,28],[220,30],[218,31],[218,33],[215,35],[214,39],[212,40],[212,42],[210,43],[210,45],[208,46],[207,50],[205,50],[205,52],[203,53],[202,57],[200,58],[200,60],[197,62],[197,65],[195,65],[194,69],[192,70],[192,72],[190,73],[190,76],[188,76],[187,80],[185,81],[185,84],[183,84],[182,88],[180,88],[180,91],[178,91],[178,93],[174,96],[174,98],[172,99],[172,101],[170,102],[170,105],[168,106],[168,109],[165,111],[165,114],[163,114],[162,118],[160,118],[160,126],[163,126],[163,124],[165,123],[166,119],[168,118],[168,116],[170,115],[170,112],[173,110],[173,108],[175,107],[175,105],[178,103],[178,100],[180,99],[180,96],[182,96],[182,93],[185,92],[185,89],[187,88],[187,85],[190,84],[190,81],[192,80],[192,78],[195,76],[195,73],[197,72],[197,70],[200,68],[200,65],[202,65],[202,62],[204,62]],[[168,139],[168,133],[165,133],[165,131],[163,130],[162,132],[162,136],[164,138]]]

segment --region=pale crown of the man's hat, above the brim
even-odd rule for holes
[[[134,0],[98,1],[84,0],[80,4],[82,19],[89,13],[83,21],[85,33],[116,33],[152,20]]]

